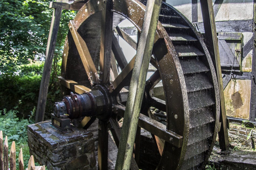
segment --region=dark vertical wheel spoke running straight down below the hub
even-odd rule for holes
[[[108,124],[99,120],[98,169],[108,169]]]

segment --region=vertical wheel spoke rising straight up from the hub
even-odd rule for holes
[[[112,24],[113,24],[113,2],[106,0],[103,3],[101,17],[100,35],[100,68],[99,77],[101,83],[108,83],[111,68],[111,46],[112,46]]]

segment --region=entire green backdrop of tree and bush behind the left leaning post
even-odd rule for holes
[[[37,105],[53,9],[51,0],[0,1],[0,110],[19,106],[27,115]],[[62,10],[55,45],[46,112],[59,97],[58,75],[68,22],[75,11]]]

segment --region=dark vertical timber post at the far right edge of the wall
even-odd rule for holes
[[[256,0],[253,0],[253,61],[251,72],[250,121],[256,122]]]

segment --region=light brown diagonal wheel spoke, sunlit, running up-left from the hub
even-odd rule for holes
[[[72,34],[73,40],[76,44],[76,48],[77,48],[80,58],[82,60],[86,74],[89,77],[91,85],[93,85],[93,84],[97,83],[98,78],[97,78],[97,70],[93,63],[90,52],[87,48],[85,41],[80,36],[80,34],[77,32],[77,29],[75,28],[75,24],[74,24],[73,20],[69,21],[68,26],[69,26],[69,30]]]

